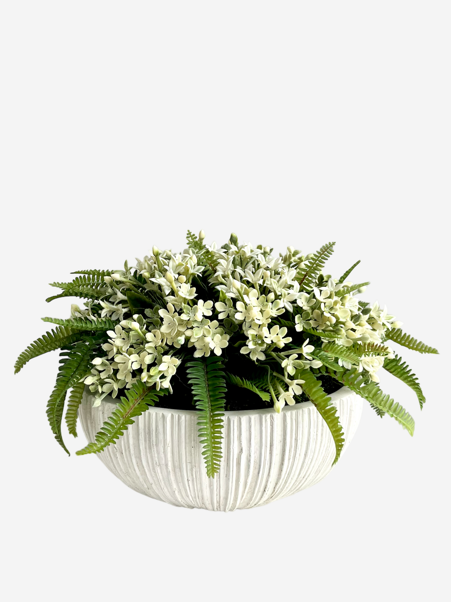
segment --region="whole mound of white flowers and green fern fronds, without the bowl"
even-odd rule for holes
[[[203,231],[198,237],[188,231],[187,239],[183,253],[153,247],[134,267],[126,262],[123,270],[82,270],[73,272],[78,276],[72,282],[52,284],[63,292],[48,301],[82,297],[84,309],[72,305],[67,320],[42,318],[58,326],[25,350],[15,369],[61,349],[47,414],[67,453],[61,435],[67,391],[66,423],[76,436],[85,386],[94,394],[94,406],[112,396],[117,407],[95,441],[77,454],[102,452],[133,417],[163,403],[165,395],[176,398],[183,387],[191,409],[195,405],[199,411],[211,477],[221,461],[226,393],[237,396],[243,389],[257,405],[271,404],[278,413],[285,404],[310,400],[332,433],[334,462],[344,439],[326,389],[349,387],[376,414],[388,414],[413,435],[413,418],[382,393],[378,371],[384,368],[410,386],[420,407],[425,397],[387,341],[438,352],[404,334],[386,308],[358,300],[369,282],[353,284],[348,276],[360,261],[336,279],[322,272],[334,243],[309,255],[287,247],[273,256],[261,244],[239,244],[235,234],[219,248],[204,244]]]

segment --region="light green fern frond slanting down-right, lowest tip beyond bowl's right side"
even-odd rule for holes
[[[375,382],[366,383],[364,376],[357,372],[355,368],[339,373],[330,372],[330,375],[370,402],[373,408],[386,412],[413,436],[415,430],[414,419],[399,403],[395,403],[389,395],[384,394]]]

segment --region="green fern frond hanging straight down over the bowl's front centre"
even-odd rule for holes
[[[216,356],[198,359],[186,364],[196,408],[200,410],[198,427],[200,443],[203,445],[207,476],[219,471],[221,462],[221,431],[224,414],[225,374],[221,359]]]

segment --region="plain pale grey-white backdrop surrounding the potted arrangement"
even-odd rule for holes
[[[449,2],[14,0],[0,17],[4,600],[445,600]],[[361,259],[363,297],[441,352],[402,352],[423,412],[382,380],[414,438],[366,406],[323,482],[230,514],[67,458],[45,415],[57,354],[12,376],[39,318],[68,315],[47,283],[183,249],[187,228],[277,252],[336,240],[336,277]]]

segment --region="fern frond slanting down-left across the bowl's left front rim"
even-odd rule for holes
[[[77,456],[83,456],[88,453],[100,453],[111,443],[115,444],[116,439],[124,434],[130,424],[135,421],[132,418],[140,416],[149,409],[149,405],[155,405],[158,396],[163,391],[149,389],[141,380],[137,380],[131,389],[125,391],[126,397],[121,397],[117,408],[102,425],[102,428],[96,435],[95,441],[88,443],[86,447],[76,452]]]

